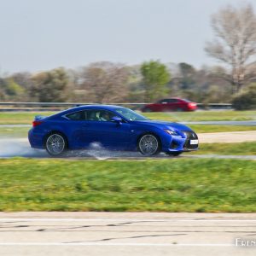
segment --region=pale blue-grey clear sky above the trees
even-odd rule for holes
[[[244,0],[0,0],[0,74],[95,61],[214,65],[211,15]],[[256,1],[247,1],[256,11]]]

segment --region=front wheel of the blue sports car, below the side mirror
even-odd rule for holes
[[[145,155],[158,154],[160,152],[160,141],[153,134],[145,134],[138,141],[138,149]]]

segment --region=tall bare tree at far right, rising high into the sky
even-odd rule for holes
[[[256,15],[250,4],[236,9],[227,6],[212,15],[212,29],[217,39],[208,42],[207,54],[230,67],[220,76],[237,92],[255,77],[252,63],[256,55]]]

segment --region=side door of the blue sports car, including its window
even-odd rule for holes
[[[108,116],[108,118],[104,118]],[[100,143],[105,148],[126,148],[131,143],[131,131],[129,123],[116,123],[111,121],[117,116],[108,110],[90,109],[85,111],[83,124],[83,139],[81,143],[87,146],[90,143]]]

